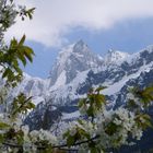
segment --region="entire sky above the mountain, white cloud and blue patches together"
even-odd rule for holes
[[[21,0],[20,0],[21,1]],[[153,0],[23,0],[36,7],[32,21],[17,22],[5,38],[21,37],[37,55],[32,75],[47,76],[55,52],[83,38],[95,52],[107,49],[133,52],[153,44]],[[44,68],[44,66],[47,67]],[[43,67],[42,67],[43,66]]]

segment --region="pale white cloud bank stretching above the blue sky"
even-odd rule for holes
[[[32,21],[17,22],[7,38],[26,34],[28,40],[60,46],[75,26],[87,31],[110,28],[128,19],[153,16],[153,0],[26,0],[36,7]]]

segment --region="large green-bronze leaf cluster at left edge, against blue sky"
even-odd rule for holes
[[[20,62],[26,66],[27,61],[33,61],[34,51],[24,45],[25,35],[17,42],[13,38],[9,47],[0,50],[0,64],[2,66],[2,78],[13,87],[22,80],[22,69]]]

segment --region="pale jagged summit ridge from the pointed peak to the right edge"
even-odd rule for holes
[[[144,56],[144,51],[152,52],[153,46],[149,46],[142,51],[132,55],[109,49],[103,58],[102,56],[92,52],[89,46],[80,39],[75,44],[62,48],[59,52],[50,72],[50,86],[54,85],[57,87],[68,84],[78,75],[78,73],[90,69],[101,71],[108,67],[115,68],[116,66],[122,64],[122,62],[133,64],[141,55]]]

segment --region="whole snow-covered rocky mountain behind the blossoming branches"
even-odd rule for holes
[[[34,125],[32,128],[39,129],[43,125],[49,128],[60,115],[63,115],[62,119],[79,116],[79,98],[98,85],[107,86],[103,93],[107,95],[110,107],[118,107],[127,98],[129,86],[143,87],[151,85],[152,81],[153,46],[132,55],[108,50],[105,57],[101,57],[93,54],[83,40],[79,40],[61,49],[49,80],[34,81],[34,94],[40,93],[36,102],[39,104],[25,122]],[[23,84],[28,89],[31,79],[28,85]]]

